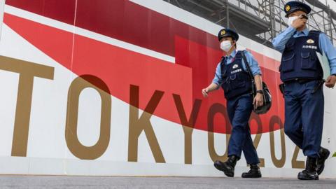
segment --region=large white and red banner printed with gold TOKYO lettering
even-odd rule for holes
[[[218,25],[145,0],[6,0],[0,41],[0,173],[223,176],[231,125],[223,91],[202,97],[223,52]],[[251,116],[262,174],[297,176],[283,133],[279,52],[244,36],[274,99]],[[323,146],[335,149],[325,90]],[[336,177],[335,160],[323,173]],[[244,157],[236,176],[246,171]]]

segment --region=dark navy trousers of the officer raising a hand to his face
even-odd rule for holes
[[[314,94],[315,80],[285,85],[285,133],[305,156],[316,158],[321,148],[324,97],[323,87]]]

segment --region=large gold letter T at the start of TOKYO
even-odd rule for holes
[[[54,68],[20,59],[0,56],[0,69],[19,73],[18,99],[15,111],[12,156],[27,156],[31,96],[34,77],[54,78]]]

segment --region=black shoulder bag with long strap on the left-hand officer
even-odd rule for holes
[[[250,76],[251,80],[252,80],[252,95],[253,95],[253,99],[255,97],[255,95],[257,94],[257,90],[255,87],[255,80],[251,71],[251,67],[247,62],[246,56],[245,56],[245,52],[241,51],[241,55],[243,56],[244,59],[244,64],[246,66],[246,69],[248,71],[248,75]],[[262,94],[263,94],[263,99],[264,99],[264,104],[262,106],[259,106],[257,109],[253,108],[253,111],[257,114],[264,114],[267,113],[267,111],[269,111],[269,109],[271,109],[272,106],[272,95],[271,92],[269,92],[269,89],[266,85],[265,82],[262,81]]]

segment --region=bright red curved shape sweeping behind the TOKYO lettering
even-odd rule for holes
[[[144,109],[154,90],[165,91],[165,96],[158,109],[155,110],[155,115],[166,120],[180,123],[172,99],[173,93],[181,95],[188,116],[190,115],[192,101],[196,98],[203,100],[195,125],[195,128],[200,130],[208,130],[207,111],[209,111],[209,107],[214,103],[225,104],[223,92],[221,91],[214,93],[211,99],[203,99],[200,93],[202,87],[209,85],[209,82],[214,77],[216,62],[221,57],[221,52],[217,48],[211,48],[202,43],[191,41],[190,38],[184,39],[183,37],[175,36],[174,42],[168,40],[170,41],[169,44],[175,44],[176,64],[172,64],[83,36],[73,36],[72,33],[67,31],[41,25],[13,15],[6,14],[4,20],[7,25],[27,41],[34,44],[36,48],[42,50],[77,75],[92,74],[102,78],[109,85],[111,94],[124,102],[129,102],[129,86],[131,84],[140,86],[141,109]],[[211,41],[215,41],[214,38]],[[73,49],[72,43],[74,44]],[[72,50],[73,61],[71,62]],[[255,52],[253,54],[261,64],[264,62],[263,58],[273,62],[272,64],[274,65],[278,64],[273,59],[268,59]],[[120,64],[120,62],[123,63]],[[193,76],[191,71],[193,71]],[[263,69],[263,77],[267,79],[268,83],[279,83],[279,73],[274,71]],[[279,104],[280,106],[273,106],[269,114],[260,116],[262,128],[258,130],[252,125],[252,133],[269,132],[268,121],[270,116],[279,116],[283,119],[281,95],[276,90],[276,85],[270,87],[272,94],[275,94],[274,104]],[[214,132],[230,132],[223,127],[224,122],[225,118],[217,116]],[[275,125],[272,130],[277,129],[279,129],[279,125]]]

